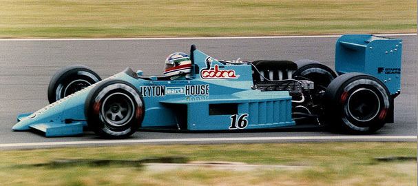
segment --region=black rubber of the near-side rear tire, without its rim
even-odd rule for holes
[[[324,96],[327,123],[339,132],[353,134],[370,134],[383,127],[390,105],[393,104],[386,85],[367,74],[349,73],[339,77],[328,85]],[[377,114],[368,121],[359,121],[348,114],[348,97],[359,88],[372,90],[379,98]],[[386,114],[382,114],[382,110],[386,110]]]

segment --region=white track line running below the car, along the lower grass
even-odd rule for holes
[[[417,140],[417,136],[289,136],[289,137],[250,137],[250,138],[172,138],[138,140],[103,140],[103,141],[63,141],[41,143],[5,143],[0,147],[34,147],[57,145],[105,145],[122,143],[191,143],[191,142],[233,142],[233,141],[312,141],[312,140]]]

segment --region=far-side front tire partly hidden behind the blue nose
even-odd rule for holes
[[[101,77],[85,65],[61,68],[52,76],[48,85],[48,101],[54,103],[98,81],[101,81]]]

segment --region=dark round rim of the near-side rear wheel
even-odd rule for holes
[[[346,111],[356,121],[367,122],[379,113],[379,96],[368,88],[359,88],[348,96]]]

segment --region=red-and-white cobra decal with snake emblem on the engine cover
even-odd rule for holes
[[[200,70],[200,78],[202,79],[237,79],[238,75],[236,75],[235,70],[219,70],[219,65],[214,65],[211,68],[213,63],[213,59],[208,56],[205,59],[206,68]]]

